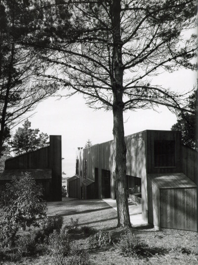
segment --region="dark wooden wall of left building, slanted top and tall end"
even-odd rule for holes
[[[47,198],[62,200],[61,135],[49,135],[49,146],[5,161],[5,169],[51,169],[51,180],[43,180]],[[46,191],[45,191],[46,193]]]

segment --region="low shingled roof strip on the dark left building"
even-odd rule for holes
[[[21,173],[31,173],[35,179],[50,179],[51,169],[5,169],[0,176],[0,180],[11,180],[14,176],[19,179]]]

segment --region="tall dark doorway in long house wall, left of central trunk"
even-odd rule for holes
[[[111,197],[111,179],[109,170],[101,170],[101,199]]]

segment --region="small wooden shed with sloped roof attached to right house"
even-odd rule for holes
[[[184,173],[148,174],[148,223],[197,231],[197,185]]]

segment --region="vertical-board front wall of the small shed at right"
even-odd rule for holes
[[[160,189],[160,227],[197,231],[197,190]]]

